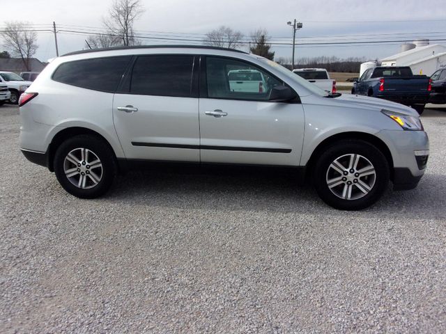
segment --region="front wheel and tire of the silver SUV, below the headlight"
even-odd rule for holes
[[[334,143],[321,154],[314,169],[318,195],[335,209],[369,207],[383,195],[389,179],[389,164],[384,154],[362,140]]]

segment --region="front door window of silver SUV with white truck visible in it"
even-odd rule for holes
[[[229,58],[206,58],[208,97],[231,100],[267,101],[272,88],[283,86],[259,67]]]

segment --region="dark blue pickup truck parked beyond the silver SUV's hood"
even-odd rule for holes
[[[366,70],[353,84],[352,94],[379,97],[411,106],[422,113],[429,102],[431,80],[413,75],[410,67],[378,66]]]

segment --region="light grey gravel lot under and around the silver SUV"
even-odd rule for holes
[[[362,212],[285,175],[128,173],[79,200],[0,107],[1,333],[446,333],[446,109],[417,189]]]

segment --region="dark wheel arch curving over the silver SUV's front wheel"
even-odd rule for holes
[[[387,160],[387,163],[389,164],[390,167],[390,178],[391,180],[393,180],[394,164],[390,149],[380,138],[374,136],[373,134],[367,134],[366,132],[342,132],[340,134],[334,134],[328,138],[325,138],[323,141],[321,141],[321,143],[319,143],[316,146],[316,149],[312,152],[312,155],[309,157],[309,160],[305,165],[305,170],[307,170],[307,173],[309,174],[312,173],[312,170],[314,170],[314,166],[316,165],[317,157],[319,157],[326,148],[344,139],[360,139],[362,141],[366,141],[367,143],[371,143],[376,148],[378,148],[378,150],[383,152],[385,159]]]

